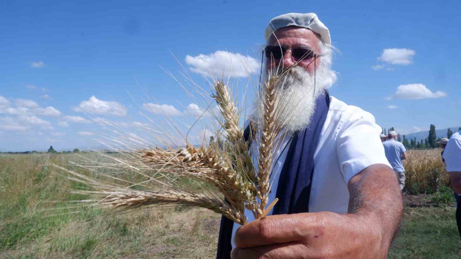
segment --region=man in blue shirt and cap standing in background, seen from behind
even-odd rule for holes
[[[402,160],[407,159],[407,150],[401,142],[397,141],[397,136],[394,130],[389,131],[387,135],[388,140],[383,142],[383,146],[386,158],[392,166],[392,169],[396,172],[400,190],[403,190],[405,186],[405,169],[403,168]]]

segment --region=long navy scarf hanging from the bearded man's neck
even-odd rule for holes
[[[309,211],[314,152],[330,108],[330,96],[327,91],[325,91],[325,95],[317,98],[316,105],[311,124],[307,129],[295,133],[291,140],[290,149],[278,180],[276,194],[278,202],[274,206],[273,215]],[[243,134],[245,140],[248,140],[249,133],[248,127]],[[232,220],[224,216],[221,218],[217,259],[231,258],[233,227],[234,222]]]

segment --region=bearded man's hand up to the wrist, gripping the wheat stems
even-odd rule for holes
[[[385,258],[381,238],[353,214],[274,215],[239,228],[231,258]]]

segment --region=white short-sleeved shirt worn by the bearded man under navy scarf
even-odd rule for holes
[[[381,127],[375,123],[375,118],[356,106],[330,97],[330,109],[322,128],[319,144],[314,153],[314,172],[309,212],[346,213],[349,205],[349,190],[347,184],[353,176],[374,164],[384,164],[392,168],[384,154],[384,147],[379,138]],[[285,158],[291,143],[291,135],[280,134],[274,155],[272,170],[272,189],[269,194],[270,204],[276,197],[278,178],[282,171]],[[252,143],[253,161],[257,162],[257,144]],[[255,166],[257,168],[257,166]],[[283,188],[281,186],[280,188]],[[272,210],[269,215],[272,214]],[[245,210],[248,222],[254,220],[253,213]],[[232,247],[235,231],[240,227],[234,223],[232,230]]]

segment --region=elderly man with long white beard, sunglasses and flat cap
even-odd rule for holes
[[[243,227],[223,217],[217,258],[386,258],[402,194],[374,117],[328,94],[329,30],[314,13],[289,13],[265,38],[266,71],[287,71],[277,87],[290,134],[274,147],[269,194],[279,201],[265,218],[247,211]]]

